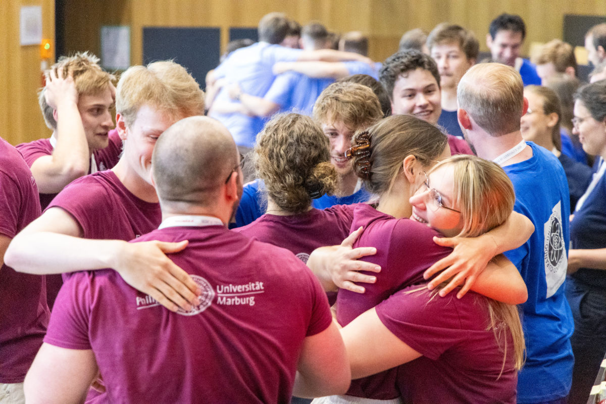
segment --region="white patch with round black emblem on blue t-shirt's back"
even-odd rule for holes
[[[551,216],[544,224],[544,259],[545,280],[547,280],[547,296],[553,296],[566,278],[568,260],[562,231],[561,201],[551,210]]]

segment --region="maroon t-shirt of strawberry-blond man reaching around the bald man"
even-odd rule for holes
[[[160,204],[133,195],[112,170],[74,180],[48,205],[78,222],[85,239],[132,240],[158,228]]]

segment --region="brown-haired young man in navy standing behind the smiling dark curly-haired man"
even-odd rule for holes
[[[427,38],[427,48],[440,73],[442,114],[438,124],[462,139],[463,132],[456,118],[456,87],[465,71],[478,59],[478,39],[461,25],[444,23],[433,28]]]

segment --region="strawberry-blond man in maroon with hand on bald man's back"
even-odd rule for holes
[[[118,164],[65,187],[13,238],[8,265],[32,274],[110,267],[171,310],[176,304],[187,307],[185,300],[195,302],[195,283],[164,255],[184,245],[127,241],[161,222],[150,179],[158,137],[179,119],[202,113],[204,93],[181,65],[161,61],[128,68],[116,92],[117,129],[124,141]]]

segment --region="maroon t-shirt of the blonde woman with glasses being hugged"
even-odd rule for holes
[[[453,294],[433,296],[428,290],[408,293],[413,289],[418,286],[376,306],[391,333],[423,355],[398,368],[404,402],[515,403],[513,340],[504,323],[496,325],[501,343],[493,329],[487,329],[487,297],[473,292],[461,299]]]

